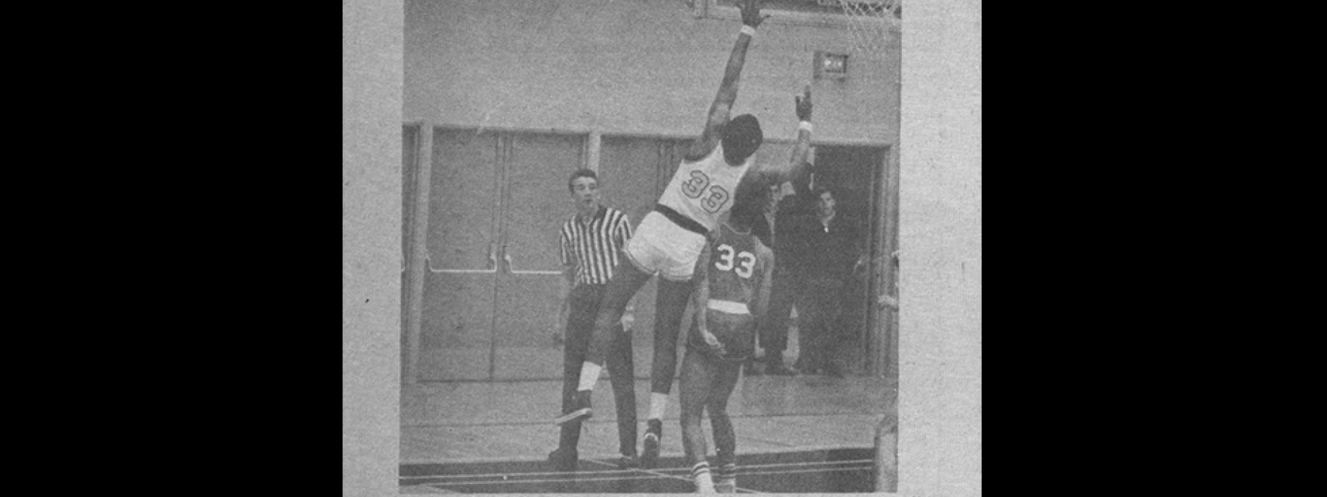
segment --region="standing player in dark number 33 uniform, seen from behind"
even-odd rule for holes
[[[706,236],[695,264],[697,313],[686,335],[679,396],[682,448],[699,493],[733,493],[736,486],[736,436],[727,404],[742,363],[755,351],[756,318],[768,305],[774,280],[774,252],[751,231],[767,195],[764,182],[742,183],[727,221]],[[705,410],[714,428],[717,481],[706,461]]]

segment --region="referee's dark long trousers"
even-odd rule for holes
[[[580,383],[581,363],[589,350],[594,331],[598,304],[608,285],[579,284],[569,297],[567,317],[567,343],[563,349],[563,412],[572,408],[572,396]],[[632,366],[632,335],[622,331],[622,323],[613,327],[613,342],[606,358],[608,376],[617,404],[617,439],[624,456],[636,456],[636,371]],[[559,448],[575,449],[580,441],[581,421],[563,424]]]

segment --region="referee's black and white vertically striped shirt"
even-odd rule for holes
[[[622,211],[600,205],[589,223],[575,215],[563,224],[563,265],[576,266],[577,285],[606,284],[630,237],[632,223]]]

